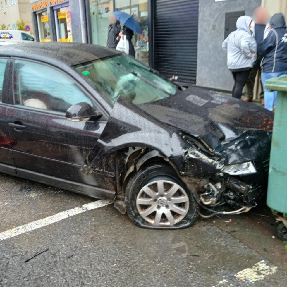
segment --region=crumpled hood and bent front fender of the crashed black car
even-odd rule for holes
[[[273,113],[260,106],[197,87],[146,104],[119,96],[82,171],[92,172],[109,154],[136,146],[161,152],[183,171],[184,155],[194,146],[186,134],[200,139],[223,164],[262,162],[270,153],[272,123]]]

